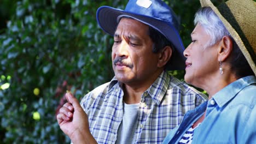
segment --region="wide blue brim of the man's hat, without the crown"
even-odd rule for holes
[[[174,45],[174,52],[171,56],[170,62],[168,63],[167,70],[183,70],[185,68],[185,57],[183,56],[184,46],[177,30],[164,22],[153,17],[130,13],[124,10],[115,9],[108,6],[102,6],[98,8],[96,19],[98,25],[103,29],[104,32],[114,35],[115,30],[118,26],[118,16],[127,15],[136,19],[146,25],[149,25],[171,41]]]

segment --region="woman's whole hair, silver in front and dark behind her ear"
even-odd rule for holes
[[[194,20],[194,24],[196,25],[197,23],[200,23],[203,29],[205,29],[206,33],[211,37],[211,40],[209,40],[205,47],[218,43],[218,41],[220,41],[225,35],[228,35],[231,38],[233,49],[230,54],[230,61],[228,61],[228,63],[230,63],[231,70],[234,71],[237,78],[254,75],[252,68],[248,64],[235,40],[231,37],[223,22],[214,13],[212,8],[203,7],[199,9],[195,14]]]

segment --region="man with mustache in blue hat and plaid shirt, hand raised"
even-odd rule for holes
[[[167,70],[184,69],[177,16],[165,2],[131,0],[125,10],[103,6],[98,25],[114,37],[115,76],[57,115],[73,143],[161,143],[185,112],[206,96]]]

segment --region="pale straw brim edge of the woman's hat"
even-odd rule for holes
[[[243,55],[246,57],[247,62],[249,63],[250,67],[252,68],[254,74],[256,75],[256,66],[253,61],[253,58],[251,57],[250,53],[246,49],[245,44],[243,43],[242,39],[240,38],[240,35],[236,32],[236,30],[230,25],[230,23],[225,19],[225,17],[220,14],[220,11],[217,7],[214,6],[214,4],[211,2],[211,0],[200,0],[202,7],[211,7],[214,13],[219,17],[219,19],[223,22],[226,29],[229,31],[230,35],[234,40],[236,41],[236,44],[238,47],[240,47],[240,50],[242,51]]]

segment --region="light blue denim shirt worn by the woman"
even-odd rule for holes
[[[192,143],[256,143],[255,76],[230,83],[210,100],[188,111],[163,143],[178,143],[205,110],[205,119],[194,130]]]

